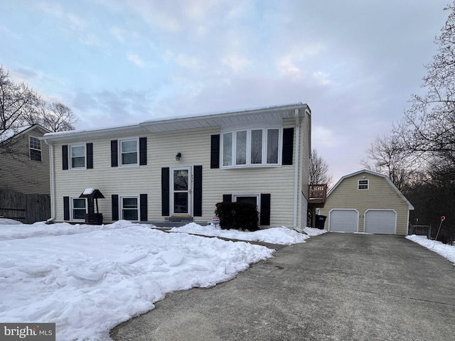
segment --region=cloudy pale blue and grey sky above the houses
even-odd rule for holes
[[[4,0],[0,65],[77,129],[304,102],[333,175],[388,135],[449,0]]]

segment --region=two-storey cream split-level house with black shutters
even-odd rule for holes
[[[81,222],[100,190],[105,222],[212,220],[221,201],[253,202],[262,226],[303,228],[311,111],[296,103],[45,134],[52,212]]]

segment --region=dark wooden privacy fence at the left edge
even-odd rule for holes
[[[0,188],[0,217],[33,224],[50,218],[50,195],[24,194]]]

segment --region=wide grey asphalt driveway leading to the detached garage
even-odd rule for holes
[[[404,237],[326,233],[213,288],[166,295],[114,340],[455,340],[455,267]]]

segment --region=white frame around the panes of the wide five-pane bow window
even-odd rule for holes
[[[252,131],[262,130],[262,162],[261,163],[252,163],[251,153],[252,153]],[[277,151],[277,163],[267,163],[267,138],[269,130],[278,131],[278,151]],[[245,164],[236,164],[237,163],[237,133],[240,131],[247,131],[247,150],[246,150],[246,163]],[[225,134],[232,134],[231,140],[231,164],[225,165]],[[245,127],[239,127],[238,129],[225,129],[221,132],[221,146],[220,146],[220,166],[221,168],[245,168],[245,167],[277,167],[282,166],[282,126],[250,126],[245,129]]]

